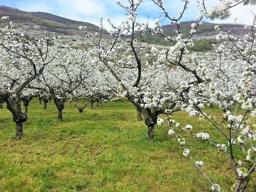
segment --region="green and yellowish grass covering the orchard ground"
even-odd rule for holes
[[[42,108],[37,99],[32,100],[19,141],[12,139],[11,113],[0,109],[0,191],[210,191],[210,184],[168,136],[167,127],[157,125],[155,142],[147,141],[147,128],[136,121],[129,102],[87,107],[83,113],[67,103],[63,122],[58,122],[53,103],[47,110]],[[222,117],[222,112],[218,115]],[[184,112],[174,116],[222,142],[207,121]],[[210,178],[222,191],[230,191],[234,181],[226,157],[208,143],[182,134]],[[253,188],[256,181],[248,191]]]

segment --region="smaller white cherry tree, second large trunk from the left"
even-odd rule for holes
[[[94,72],[95,60],[90,54],[77,49],[66,49],[63,55],[45,68],[41,82],[34,88],[46,91],[58,109],[58,120],[62,121],[64,102],[78,98],[81,83]]]

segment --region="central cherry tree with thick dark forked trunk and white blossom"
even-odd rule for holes
[[[110,45],[102,43],[102,19],[100,30],[95,35],[89,34],[86,27],[79,26],[79,29],[83,30],[86,37],[94,43],[93,50],[94,54],[98,54],[98,64],[116,79],[118,86],[115,92],[121,97],[128,98],[143,114],[148,128],[148,139],[153,140],[154,125],[157,124],[158,115],[166,113],[166,109],[172,109],[173,112],[179,110],[175,108],[182,100],[184,91],[182,84],[185,80],[192,79],[190,83],[199,83],[201,80],[191,78],[191,75],[195,76],[195,72],[184,76],[181,70],[173,70],[173,67],[166,65],[166,52],[155,47],[151,50],[142,48],[142,42],[135,38],[136,32],[143,28],[146,32],[148,29],[147,23],[141,24],[137,21],[136,11],[143,2],[142,0],[128,1],[128,5],[123,5],[120,1],[116,2],[127,11],[128,18],[120,26],[114,26],[111,20],[107,19],[112,26],[112,29],[108,31],[113,40]],[[126,41],[123,38],[125,35],[130,37]],[[145,33],[142,36],[144,35]],[[177,38],[177,41],[180,42],[180,39]],[[181,45],[177,43],[173,48],[173,59],[178,58],[182,45],[184,43]],[[192,46],[189,40],[187,45]],[[158,53],[164,56],[159,57]],[[169,86],[166,87],[166,84]],[[166,103],[169,105],[165,105]]]

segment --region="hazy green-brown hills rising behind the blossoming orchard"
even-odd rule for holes
[[[96,32],[99,30],[99,27],[94,24],[74,21],[50,13],[27,12],[7,6],[0,6],[0,16],[2,17],[6,15],[10,17],[11,21],[15,23],[17,28],[26,30],[30,35],[38,35],[41,31],[45,30],[56,33],[54,35],[61,34],[69,45],[77,48],[87,47],[90,45],[90,42],[82,37],[81,31],[78,30],[78,26],[87,26],[87,29],[90,32]],[[190,35],[191,23],[194,22],[189,21],[180,24],[184,37]],[[4,27],[5,25],[6,23],[0,20],[0,27]],[[243,25],[234,26],[233,24],[203,23],[203,25],[200,25],[197,28],[196,34],[193,35],[195,46],[191,48],[191,50],[208,51],[212,49],[211,45],[216,43],[215,25],[218,25],[221,30],[224,31],[232,30],[232,33],[236,36],[243,36],[248,33]],[[177,35],[175,33],[176,25],[165,25],[162,26],[162,29],[166,36],[174,37]],[[141,39],[141,33],[141,31],[136,33],[136,38],[139,40]],[[160,35],[152,36],[151,33],[147,33],[146,35],[146,38],[143,38],[142,41],[147,44],[159,46],[172,45],[170,42],[166,42]],[[104,39],[106,42],[111,41],[108,35],[105,35]]]

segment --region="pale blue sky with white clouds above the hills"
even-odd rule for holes
[[[125,2],[127,0],[120,0]],[[182,21],[192,21],[198,15],[196,0],[190,0]],[[206,0],[207,6],[210,7],[218,0]],[[23,11],[41,11],[47,12],[67,19],[83,21],[98,25],[99,18],[109,17],[111,21],[118,25],[124,20],[125,11],[115,4],[115,0],[0,0],[0,5],[6,5],[12,8],[18,8]],[[170,16],[177,15],[182,8],[181,0],[165,0],[165,7]],[[236,18],[237,23],[251,24],[252,13],[256,14],[256,6],[244,6],[242,4],[232,8],[230,18],[226,20],[204,19],[205,22],[211,23],[233,23]],[[154,19],[159,18],[161,10],[155,6],[151,0],[144,0],[138,9],[138,20],[140,22],[149,21],[154,26]],[[10,18],[11,19],[11,18]],[[167,19],[162,20],[162,25],[169,24]],[[104,27],[109,28],[107,22]]]

